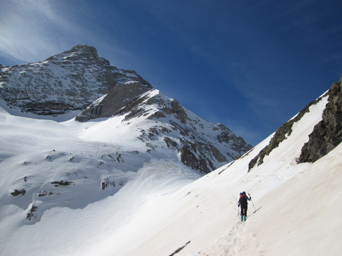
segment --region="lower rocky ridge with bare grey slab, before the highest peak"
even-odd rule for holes
[[[136,129],[138,133],[135,133],[146,144],[147,152],[166,146],[180,154],[181,162],[202,173],[209,173],[252,148],[224,125],[197,117],[158,90],[141,94],[142,91],[144,88],[139,82],[116,86],[75,119],[85,121],[109,116],[122,118],[128,127],[139,127],[134,125],[135,119],[145,120],[149,127]]]

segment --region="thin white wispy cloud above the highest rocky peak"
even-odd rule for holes
[[[0,52],[15,59],[46,59],[64,49],[64,40],[80,31],[48,0],[4,1],[1,7]]]

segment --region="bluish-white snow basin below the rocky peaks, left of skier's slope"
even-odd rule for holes
[[[125,225],[150,193],[200,177],[168,150],[146,153],[125,126],[125,138],[119,127],[107,142],[92,140],[119,125],[115,118],[57,123],[0,110],[1,255],[73,255]],[[15,189],[24,195],[12,196]]]

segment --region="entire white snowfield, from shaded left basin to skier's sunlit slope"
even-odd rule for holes
[[[296,162],[326,102],[260,166],[248,172],[273,135],[203,177],[176,151],[147,153],[121,120],[58,123],[0,108],[0,254],[341,255],[342,145]],[[253,203],[239,223],[242,191]]]

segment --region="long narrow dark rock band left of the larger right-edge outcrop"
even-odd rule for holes
[[[273,138],[270,140],[270,143],[266,147],[264,147],[259,152],[259,154],[249,162],[248,172],[256,165],[256,163],[257,163],[257,166],[261,165],[263,163],[264,157],[268,156],[272,152],[272,150],[277,148],[279,146],[279,143],[282,142],[284,139],[286,139],[286,136],[291,135],[293,124],[295,122],[298,122],[304,116],[305,113],[310,112],[309,107],[314,104],[317,104],[320,100],[321,98],[318,98],[310,102],[308,105],[305,106],[305,108],[302,111],[299,112],[299,114],[295,118],[282,124],[276,131]]]

